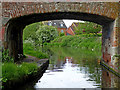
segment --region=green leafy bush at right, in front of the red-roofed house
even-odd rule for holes
[[[102,30],[102,26],[92,23],[92,22],[85,22],[85,23],[79,23],[78,27],[75,27],[75,33],[76,35],[79,34],[96,34]]]

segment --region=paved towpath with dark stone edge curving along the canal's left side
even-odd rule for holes
[[[23,76],[22,78],[20,77],[19,80],[9,80],[5,83],[3,82],[2,83],[2,86],[4,86],[3,90],[18,89],[19,87],[24,86],[27,83],[34,82],[43,76],[43,73],[45,72],[45,70],[47,69],[49,65],[49,60],[48,59],[36,59],[35,57],[32,57],[32,56],[31,58],[32,59],[30,59],[30,56],[29,56],[25,58],[22,62],[37,63],[38,65],[37,71],[31,74],[28,74],[26,76]]]

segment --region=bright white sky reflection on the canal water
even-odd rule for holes
[[[72,63],[71,58],[65,58],[62,68],[59,68],[59,65],[55,66],[58,67],[46,71],[47,73],[36,83],[35,88],[96,88],[95,82],[84,77],[85,74],[80,72],[77,64]]]

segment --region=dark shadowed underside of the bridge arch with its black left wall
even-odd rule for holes
[[[31,23],[46,21],[46,20],[59,20],[59,19],[76,19],[83,21],[90,21],[103,26],[103,41],[105,38],[109,38],[109,31],[111,30],[110,26],[113,19],[110,19],[105,16],[88,14],[88,13],[79,13],[79,12],[53,12],[53,13],[40,13],[25,15],[18,18],[13,18],[8,21],[7,31],[6,31],[6,43],[5,48],[9,49],[9,54],[16,61],[19,60],[18,56],[23,55],[23,29],[26,25]],[[107,34],[107,36],[105,36]],[[104,44],[104,42],[103,42]],[[21,56],[22,57],[22,56]]]

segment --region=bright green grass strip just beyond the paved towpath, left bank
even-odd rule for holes
[[[35,56],[40,59],[48,58],[46,54],[42,53],[39,49],[35,49],[35,47],[30,43],[24,43],[23,52],[24,54]]]

